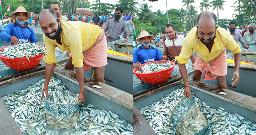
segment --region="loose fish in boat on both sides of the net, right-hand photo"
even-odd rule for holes
[[[184,88],[174,90],[165,98],[141,108],[141,113],[157,135],[179,135],[170,120],[170,114],[184,96]],[[256,124],[246,117],[231,114],[224,108],[211,108],[194,94],[195,103],[208,121],[206,135],[256,135]]]

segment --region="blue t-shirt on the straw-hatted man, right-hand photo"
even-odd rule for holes
[[[162,60],[161,53],[156,47],[149,45],[149,49],[145,49],[143,45],[134,49],[133,53],[133,63],[140,62],[141,64],[148,63],[151,61],[160,61]]]

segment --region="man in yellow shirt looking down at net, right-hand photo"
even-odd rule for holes
[[[212,12],[200,13],[197,19],[198,26],[191,29],[187,37],[184,38],[180,56],[175,58],[178,61],[180,74],[185,83],[184,95],[187,95],[188,98],[190,87],[187,81],[185,64],[188,62],[193,50],[197,53],[194,80],[200,81],[200,78],[213,80],[217,78],[218,86],[228,89],[226,86],[226,49],[228,49],[235,56],[235,72],[232,80],[235,77],[236,80],[232,85],[236,85],[239,81],[241,49],[229,32],[223,28],[216,27],[216,20],[216,15]],[[202,74],[203,72],[204,75]]]

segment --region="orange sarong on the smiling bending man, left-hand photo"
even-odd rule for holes
[[[102,29],[102,28],[101,28]],[[72,57],[71,53],[70,56]],[[87,71],[92,67],[103,67],[108,64],[107,38],[102,29],[102,33],[95,41],[93,47],[83,52],[83,70]]]

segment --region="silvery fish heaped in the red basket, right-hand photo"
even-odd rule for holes
[[[155,72],[158,72],[158,71],[161,71],[161,69],[165,70],[171,66],[172,66],[172,63],[170,61],[168,61],[167,63],[149,63],[141,66],[142,72],[137,70],[136,73],[152,73],[156,69],[158,70],[156,70]]]

